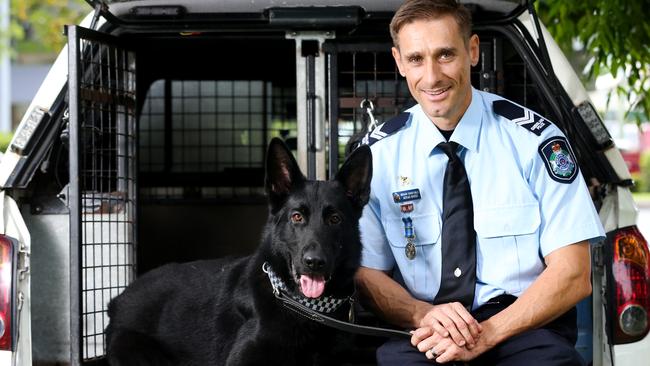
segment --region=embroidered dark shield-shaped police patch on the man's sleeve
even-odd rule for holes
[[[542,142],[539,145],[539,155],[554,181],[571,183],[578,175],[577,160],[564,137],[555,136]]]

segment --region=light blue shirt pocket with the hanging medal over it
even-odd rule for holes
[[[415,233],[415,257],[406,256],[408,243],[401,217],[384,219],[386,237],[399,267],[401,280],[413,296],[431,300],[440,286],[441,221],[439,214],[410,216]],[[399,277],[398,277],[399,278]]]

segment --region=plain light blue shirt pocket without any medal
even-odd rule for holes
[[[537,202],[475,209],[478,279],[520,294],[540,269],[540,223]]]

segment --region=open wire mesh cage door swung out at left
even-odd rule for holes
[[[71,364],[101,360],[109,300],[136,264],[135,53],[68,28]]]

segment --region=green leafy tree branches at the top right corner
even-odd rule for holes
[[[542,0],[536,3],[540,18],[565,53],[583,46],[585,81],[622,72],[627,85],[612,93],[628,100],[626,112],[637,123],[650,118],[650,0]],[[581,70],[578,70],[581,71]],[[612,94],[610,94],[611,98]]]

